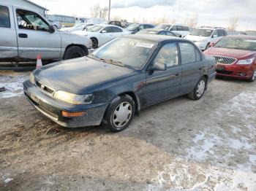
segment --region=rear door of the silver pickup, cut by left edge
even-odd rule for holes
[[[0,4],[0,58],[18,57],[18,44],[12,6]]]

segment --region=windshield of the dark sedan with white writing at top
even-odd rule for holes
[[[154,42],[117,38],[99,47],[92,55],[99,59],[118,62],[123,66],[140,69],[155,47]]]

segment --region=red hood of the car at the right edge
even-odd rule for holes
[[[232,57],[236,59],[242,59],[254,55],[255,51],[251,50],[237,50],[230,48],[221,48],[221,47],[211,47],[204,52],[206,55],[222,55],[227,57]]]

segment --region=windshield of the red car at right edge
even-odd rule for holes
[[[239,49],[239,50],[256,50],[256,39],[243,39],[243,38],[223,38],[217,42],[214,47]]]

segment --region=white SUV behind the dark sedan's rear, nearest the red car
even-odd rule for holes
[[[191,32],[184,37],[194,42],[200,50],[206,50],[211,42],[217,42],[222,36],[227,36],[225,28],[193,28]]]

